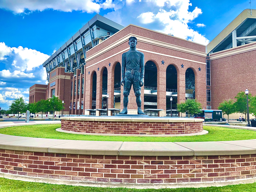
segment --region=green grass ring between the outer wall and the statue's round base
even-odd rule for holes
[[[59,124],[54,125],[28,125],[6,127],[0,133],[7,135],[40,137],[51,139],[87,140],[87,141],[145,141],[145,142],[196,142],[196,141],[234,141],[255,139],[256,131],[230,129],[224,127],[204,126],[209,131],[206,135],[179,136],[179,137],[131,137],[131,136],[98,136],[62,133],[56,131]]]

